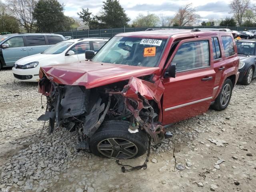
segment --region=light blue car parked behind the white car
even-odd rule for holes
[[[62,35],[44,33],[7,34],[0,37],[0,69],[13,66],[20,58],[34,55],[65,40]]]

